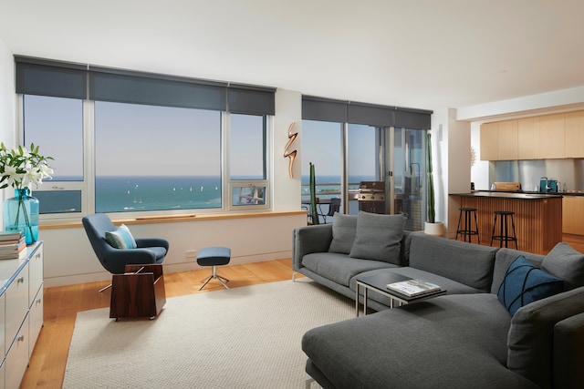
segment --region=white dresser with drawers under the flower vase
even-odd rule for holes
[[[43,326],[43,242],[0,261],[0,389],[18,389]]]

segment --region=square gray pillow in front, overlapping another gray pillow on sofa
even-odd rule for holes
[[[401,238],[407,217],[359,212],[349,257],[401,264]]]

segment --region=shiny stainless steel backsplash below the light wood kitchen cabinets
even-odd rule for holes
[[[489,163],[489,185],[521,182],[521,189],[534,190],[539,179],[557,179],[562,190],[584,191],[584,159],[498,160]]]

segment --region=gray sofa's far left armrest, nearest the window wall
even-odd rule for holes
[[[332,241],[332,224],[297,227],[292,237],[292,269],[302,267],[302,257],[312,252],[326,252]]]

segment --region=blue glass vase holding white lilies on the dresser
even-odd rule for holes
[[[4,201],[5,230],[22,230],[26,244],[38,239],[38,199],[30,196],[30,190],[15,189],[15,197]]]

